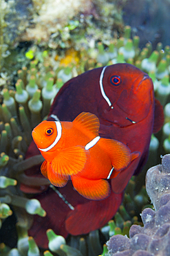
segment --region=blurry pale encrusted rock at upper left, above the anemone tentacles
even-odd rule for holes
[[[58,49],[61,55],[63,49],[80,51],[96,40],[108,41],[118,30],[123,30],[121,7],[109,1],[1,0],[0,86],[13,83],[17,70],[29,66],[30,46]]]

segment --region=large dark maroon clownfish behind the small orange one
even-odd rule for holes
[[[98,117],[99,136],[118,140],[131,152],[140,152],[140,156],[111,180],[111,193],[107,199],[85,199],[72,188],[70,182],[58,191],[74,206],[74,210],[70,210],[51,189],[37,195],[36,199],[41,202],[47,217],[35,216],[29,233],[42,247],[47,247],[47,228],[64,237],[68,233],[87,234],[104,226],[114,216],[129,179],[138,174],[147,161],[152,132],[158,131],[164,120],[163,109],[154,98],[151,79],[130,64],[95,68],[66,82],[54,98],[48,120],[54,121],[57,116],[61,121],[72,122],[83,111]],[[29,154],[39,154],[33,143]],[[27,192],[38,192],[33,186],[23,191],[25,189]]]

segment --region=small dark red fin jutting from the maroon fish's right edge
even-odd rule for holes
[[[164,109],[159,100],[155,98],[153,134],[156,134],[164,124]]]

